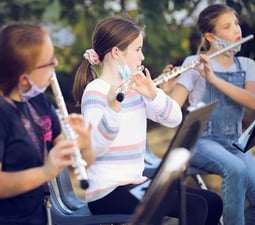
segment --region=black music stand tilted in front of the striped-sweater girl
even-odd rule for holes
[[[192,153],[192,149],[199,138],[208,118],[210,117],[217,102],[212,102],[202,106],[191,112],[188,112],[182,124],[178,127],[171,143],[162,159],[161,164],[149,187],[137,206],[134,215],[130,221],[130,225],[160,225],[166,215],[167,195],[169,190],[173,188],[173,183],[182,175],[184,168],[180,164],[185,165],[189,156],[184,156],[184,149],[188,149]],[[182,152],[181,152],[182,151]],[[178,155],[179,152],[179,155]],[[180,155],[183,155],[182,157]],[[178,165],[179,163],[179,165]],[[173,164],[173,167],[171,167]],[[177,166],[177,165],[178,166]],[[171,169],[169,169],[171,168]],[[179,168],[179,169],[178,169]],[[182,182],[182,179],[181,179]],[[186,225],[186,198],[184,185],[181,187],[181,218],[180,224]],[[138,189],[136,187],[135,189]],[[144,185],[141,185],[141,190],[144,190]],[[140,190],[140,192],[141,192]],[[131,193],[135,193],[136,191]],[[139,193],[139,191],[137,191]],[[135,195],[135,194],[134,194]]]

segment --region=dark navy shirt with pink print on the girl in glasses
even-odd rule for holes
[[[51,149],[54,138],[61,132],[55,109],[46,96],[40,94],[29,102],[39,115],[41,126],[34,123],[26,103],[14,102],[16,106],[14,108],[3,99],[0,101],[2,171],[15,172],[41,166],[44,163],[44,144],[46,144],[47,150]],[[25,129],[18,110],[31,122],[37,140],[39,140],[40,149],[36,148]],[[46,224],[44,192],[44,186],[40,186],[15,197],[0,199],[0,224]]]

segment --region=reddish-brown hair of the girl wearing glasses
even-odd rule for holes
[[[40,56],[48,31],[40,25],[11,24],[0,33],[0,90],[9,95],[19,76],[29,73]]]

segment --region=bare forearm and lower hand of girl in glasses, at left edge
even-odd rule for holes
[[[54,178],[65,166],[72,165],[72,141],[57,143],[50,151],[45,164],[22,171],[5,172],[0,164],[0,198],[9,198],[31,191]]]

